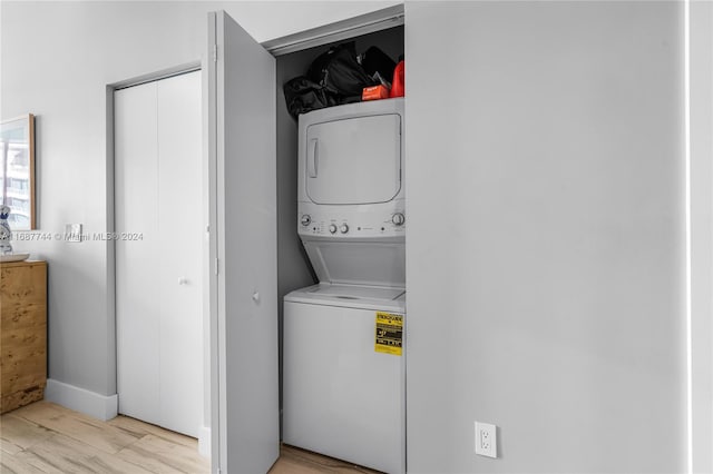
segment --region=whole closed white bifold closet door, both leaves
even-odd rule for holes
[[[115,92],[119,413],[197,436],[203,414],[201,73]]]

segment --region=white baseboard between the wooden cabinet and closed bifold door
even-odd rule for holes
[[[118,395],[100,395],[85,388],[47,379],[45,399],[102,421],[111,419],[118,414]]]

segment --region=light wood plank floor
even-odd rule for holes
[[[198,442],[127,416],[109,422],[48,402],[0,417],[0,473],[209,473]],[[375,473],[283,446],[270,474]]]

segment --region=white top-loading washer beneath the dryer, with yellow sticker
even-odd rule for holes
[[[403,317],[403,288],[320,284],[284,308],[284,443],[406,472],[406,353],[375,347],[377,313]]]

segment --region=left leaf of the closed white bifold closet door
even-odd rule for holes
[[[115,226],[141,233],[116,241],[116,338],[119,413],[160,424],[160,305],[146,297],[158,268],[158,162],[156,83],[114,93]],[[137,269],[140,269],[137,271]]]

